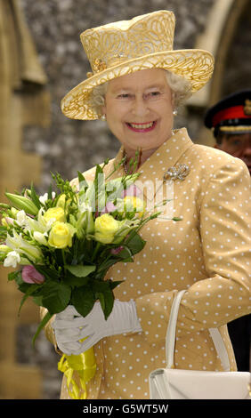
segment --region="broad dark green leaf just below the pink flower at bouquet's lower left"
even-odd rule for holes
[[[43,285],[43,291],[37,296],[42,296],[43,306],[51,314],[61,312],[65,309],[70,300],[71,288],[63,282],[48,281]]]

